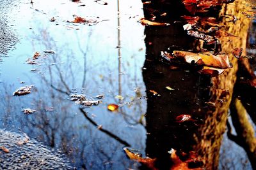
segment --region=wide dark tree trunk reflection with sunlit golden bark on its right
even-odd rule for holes
[[[241,2],[238,0],[239,5],[236,6],[225,5],[220,11],[220,15],[235,15],[239,18],[235,24],[221,23],[229,33],[239,36],[232,38],[232,41],[229,41],[231,38],[228,36],[221,37],[221,52],[228,53],[234,48],[246,47],[250,20],[241,14],[244,7]],[[145,13],[148,16],[147,9]],[[169,169],[172,166],[167,153],[171,148],[177,150],[183,160],[186,160],[184,153],[196,151],[198,160],[204,162],[206,169],[218,169],[220,146],[236,82],[237,59],[229,55],[233,68],[211,79],[184,70],[171,71],[163,64],[152,62],[168,46],[193,48],[193,41],[180,29],[182,28],[177,25],[145,29],[147,59],[143,78],[148,96],[146,152],[149,157],[157,158],[156,166],[159,169]],[[169,85],[175,90],[166,90],[165,87]],[[152,95],[150,90],[155,90],[161,96]],[[207,96],[210,92],[211,96]],[[207,106],[205,102],[214,103],[215,106]],[[198,118],[197,122],[177,124],[175,117],[180,114]],[[166,162],[169,164],[166,165]]]

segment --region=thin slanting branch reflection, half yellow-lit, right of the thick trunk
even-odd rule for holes
[[[253,169],[256,169],[256,138],[252,124],[250,124],[247,112],[239,99],[233,99],[230,107],[232,122],[237,132],[237,138],[246,151]],[[239,144],[239,143],[237,143]]]

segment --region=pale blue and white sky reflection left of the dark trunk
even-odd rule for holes
[[[106,97],[102,99],[102,104],[86,109],[89,117],[104,129],[127,141],[132,148],[143,152],[145,129],[142,125],[134,123],[138,122],[141,115],[146,112],[145,99],[138,99],[132,104],[125,105],[120,109],[122,113],[120,111],[111,113],[106,109],[109,103],[118,103],[118,99],[115,99],[119,90],[116,2],[111,1],[107,6],[102,6],[93,1],[86,1],[82,3],[86,6],[79,7],[79,4],[70,1],[35,1],[33,8],[30,8],[31,4],[25,2],[20,3],[19,10],[13,11],[15,18],[13,27],[17,29],[16,34],[20,36],[20,41],[15,49],[8,53],[10,57],[4,58],[1,64],[3,102],[0,106],[4,108],[1,114],[6,120],[2,120],[0,127],[24,131],[31,137],[49,143],[42,129],[36,127],[36,124],[43,124],[43,120],[49,121],[49,127],[44,127],[45,131],[49,132],[52,131],[51,126],[61,124],[55,129],[56,146],[61,146],[60,141],[63,141],[61,137],[66,136],[70,138],[68,143],[77,150],[81,150],[82,146],[86,145],[84,154],[87,154],[88,164],[94,162],[100,167],[102,162],[107,160],[102,156],[104,155],[102,152],[106,152],[111,157],[108,164],[114,164],[113,167],[130,167],[129,160],[122,151],[123,145],[92,127],[79,113],[79,106],[68,101],[67,95],[52,90],[49,83],[44,81],[45,78],[55,87],[67,90],[63,86],[63,80],[70,90],[81,92],[83,88],[82,91],[88,97],[104,93]],[[134,92],[136,88],[139,88],[142,96],[145,96],[141,74],[145,60],[144,28],[137,22],[143,16],[142,5],[140,1],[129,1],[129,4],[127,2],[120,3],[121,95],[124,97],[124,102],[138,97]],[[73,20],[74,14],[106,21],[93,26],[66,22]],[[50,22],[51,17],[56,18],[56,22]],[[56,54],[44,56],[44,50],[50,49]],[[35,52],[42,54],[41,59],[38,60],[40,66],[26,64],[26,59],[32,57]],[[84,63],[86,80],[82,85]],[[38,68],[38,73],[30,71],[34,68]],[[20,84],[20,81],[26,83]],[[31,84],[35,85],[31,94],[12,97],[15,89]],[[54,111],[45,112],[44,106],[53,106]],[[38,113],[26,116],[20,112],[23,108],[29,107],[39,110]],[[75,153],[69,154],[75,155],[75,159],[78,159]],[[100,159],[102,157],[104,159]]]

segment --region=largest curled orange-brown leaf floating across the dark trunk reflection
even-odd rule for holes
[[[173,51],[176,57],[184,58],[189,64],[204,65],[221,69],[231,68],[232,64],[228,60],[228,55],[213,55],[210,52],[193,53],[185,51]]]

